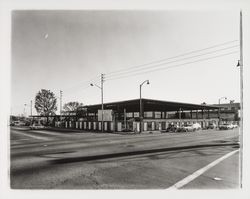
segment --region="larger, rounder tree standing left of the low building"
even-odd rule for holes
[[[47,117],[48,122],[48,116],[55,115],[57,110],[55,94],[50,90],[41,89],[36,94],[35,108],[40,115]]]

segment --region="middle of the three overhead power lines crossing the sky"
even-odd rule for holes
[[[118,74],[111,75],[110,77],[114,78],[115,76],[121,76],[121,75],[125,75],[125,74],[128,74],[128,73],[134,73],[136,71],[142,71],[142,70],[146,70],[148,68],[152,69],[152,68],[155,68],[155,67],[159,67],[159,66],[161,66],[163,64],[170,64],[170,63],[180,62],[180,61],[183,61],[183,60],[192,59],[192,58],[195,58],[195,57],[200,57],[200,56],[204,56],[204,55],[213,54],[213,53],[216,53],[216,52],[219,52],[219,51],[228,50],[228,49],[235,48],[235,47],[238,47],[238,46],[239,45],[230,46],[230,47],[227,47],[227,48],[222,48],[222,49],[210,51],[210,52],[207,52],[207,53],[203,53],[203,54],[199,54],[199,55],[194,55],[194,56],[191,56],[191,57],[185,57],[185,58],[174,60],[174,61],[170,61],[170,62],[158,63],[158,64],[155,64],[155,65],[150,65],[150,66],[143,67],[143,68],[135,68],[135,69],[131,69],[130,71],[127,71],[127,72],[120,72]]]

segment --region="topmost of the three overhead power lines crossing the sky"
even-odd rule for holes
[[[118,73],[120,71],[126,71],[126,70],[131,69],[131,68],[137,68],[137,67],[140,68],[140,67],[143,67],[143,66],[147,66],[147,65],[150,65],[150,64],[154,64],[154,63],[166,61],[166,60],[169,60],[169,59],[174,59],[174,58],[182,57],[182,56],[185,56],[185,55],[197,53],[197,52],[200,52],[200,51],[208,50],[208,49],[211,49],[211,48],[216,48],[216,47],[227,45],[227,44],[230,44],[230,43],[233,43],[233,42],[236,42],[236,41],[238,41],[238,40],[232,40],[232,41],[228,41],[228,42],[216,44],[216,45],[213,45],[213,46],[209,46],[207,48],[203,48],[203,49],[199,49],[199,50],[194,50],[194,51],[190,51],[190,52],[183,53],[183,54],[180,54],[180,55],[176,55],[176,56],[173,56],[173,57],[163,58],[163,59],[152,61],[152,62],[149,62],[149,63],[135,65],[135,66],[131,66],[129,68],[121,69],[121,70],[116,70],[116,71],[108,73],[107,76],[111,75],[111,74],[114,74],[114,73]]]

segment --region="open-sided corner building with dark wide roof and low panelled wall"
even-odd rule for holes
[[[76,112],[53,116],[56,127],[88,131],[154,131],[165,130],[169,124],[199,123],[202,128],[209,123],[218,125],[221,112],[218,106],[190,104],[152,99],[119,101],[82,106]],[[142,117],[140,117],[140,110]]]

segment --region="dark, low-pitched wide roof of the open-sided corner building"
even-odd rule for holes
[[[191,104],[183,102],[172,102],[154,99],[142,98],[144,111],[178,111],[178,110],[212,110],[218,109],[216,106]],[[96,112],[101,109],[101,104],[86,105],[79,108],[87,108],[89,112]],[[104,103],[104,109],[113,109],[116,111],[139,112],[140,99],[132,99],[118,102]]]

